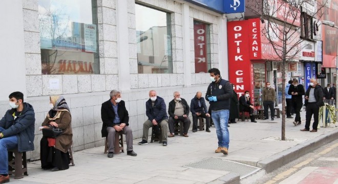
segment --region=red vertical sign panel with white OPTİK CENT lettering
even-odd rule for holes
[[[248,21],[227,22],[229,81],[239,96],[251,91]]]

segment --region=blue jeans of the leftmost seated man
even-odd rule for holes
[[[5,130],[0,127],[0,132]],[[7,150],[17,148],[16,135],[0,139],[0,174],[8,174],[8,152]]]

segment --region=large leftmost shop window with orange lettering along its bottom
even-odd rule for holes
[[[99,74],[95,0],[39,0],[42,74]]]

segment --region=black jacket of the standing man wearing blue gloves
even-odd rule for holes
[[[209,101],[209,96],[216,96],[217,102],[209,102],[212,110],[225,110],[230,109],[230,98],[233,97],[233,87],[229,81],[220,79],[219,83],[212,82],[209,84],[208,89],[206,90],[205,99]]]

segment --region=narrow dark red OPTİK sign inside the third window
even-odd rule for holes
[[[207,73],[206,25],[194,24],[195,73]]]

